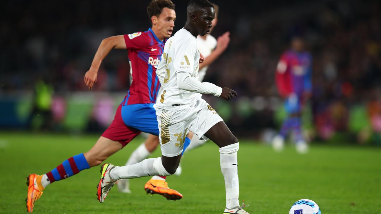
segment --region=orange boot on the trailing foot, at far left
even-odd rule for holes
[[[30,174],[26,178],[28,186],[28,197],[25,199],[27,212],[33,212],[35,201],[41,197],[42,191],[45,189],[41,184],[42,175]]]

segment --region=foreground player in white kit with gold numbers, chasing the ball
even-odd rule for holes
[[[184,28],[165,43],[162,60],[156,70],[163,92],[155,104],[162,157],[128,166],[102,165],[98,184],[100,202],[104,201],[118,179],[173,174],[181,159],[184,138],[191,131],[200,139],[209,138],[219,146],[226,189],[224,213],[248,213],[238,200],[238,140],[216,111],[201,98],[201,94],[213,94],[231,100],[237,97],[237,92],[198,81],[200,52],[196,36],[210,32],[214,17],[214,7],[208,0],[191,0]]]

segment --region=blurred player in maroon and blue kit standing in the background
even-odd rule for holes
[[[272,146],[275,151],[284,147],[285,137],[293,133],[296,150],[306,153],[308,146],[301,130],[301,112],[304,103],[311,96],[312,58],[304,50],[303,38],[295,36],[291,40],[291,49],[280,57],[275,75],[279,94],[285,99],[287,118],[283,121],[279,135],[275,136]]]

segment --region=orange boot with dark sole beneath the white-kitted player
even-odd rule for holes
[[[176,190],[168,188],[168,183],[164,180],[150,179],[146,185],[144,185],[144,190],[147,194],[159,194],[164,196],[167,200],[179,200],[182,198],[181,193]]]

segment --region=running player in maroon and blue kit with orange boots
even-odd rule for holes
[[[147,140],[158,141],[158,123],[153,105],[160,82],[155,71],[163,54],[164,43],[172,34],[176,13],[170,0],[153,0],[147,7],[147,13],[152,28],[146,32],[111,36],[102,40],[90,70],[85,74],[85,84],[91,90],[101,62],[111,49],[128,49],[132,84],[118,106],[114,120],[89,151],[70,157],[46,174],[28,176],[28,212],[33,211],[35,200],[40,198],[47,185],[101,164],[141,132],[152,135]],[[159,193],[165,193],[167,199],[182,198],[176,190],[169,189],[165,181],[156,184],[155,188]]]

